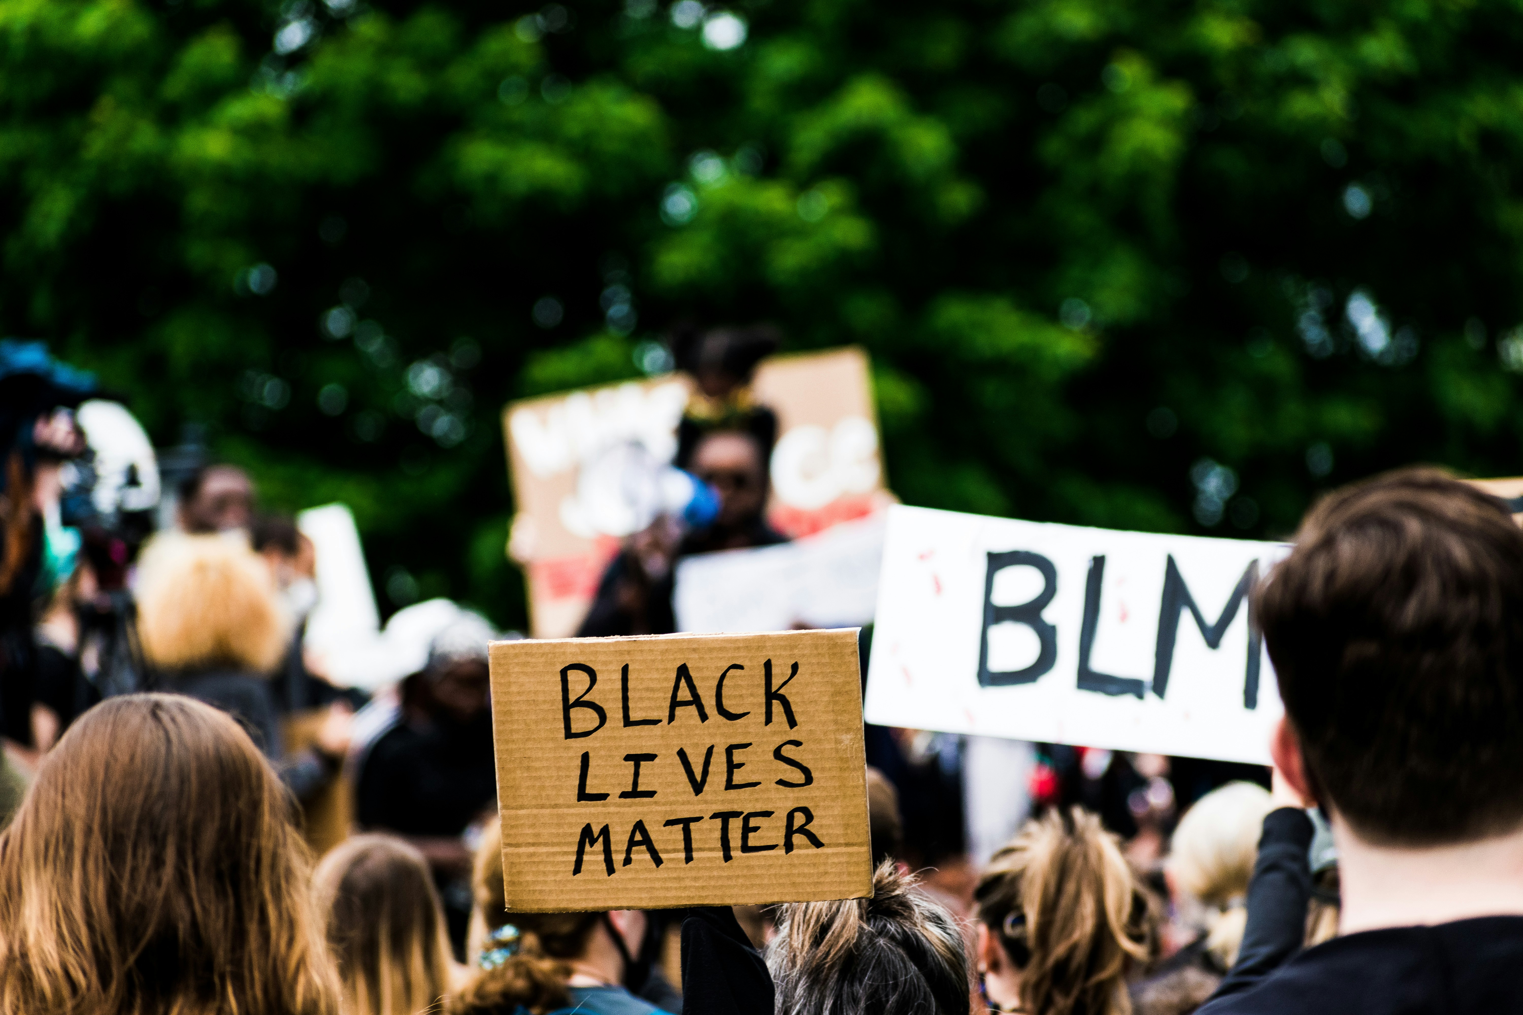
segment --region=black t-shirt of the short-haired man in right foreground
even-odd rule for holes
[[[1523,1012],[1523,916],[1369,930],[1308,948],[1200,1015]]]

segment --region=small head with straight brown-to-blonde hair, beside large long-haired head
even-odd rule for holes
[[[417,849],[355,835],[323,857],[312,896],[349,1015],[413,1015],[449,992],[445,915]]]

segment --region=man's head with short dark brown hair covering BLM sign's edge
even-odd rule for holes
[[[1523,531],[1433,469],[1322,499],[1255,610],[1285,778],[1359,840],[1474,842],[1523,825]]]

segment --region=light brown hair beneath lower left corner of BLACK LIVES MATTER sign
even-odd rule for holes
[[[571,1004],[567,980],[576,959],[586,950],[602,913],[512,913],[503,890],[503,826],[487,822],[477,846],[471,877],[472,936],[483,937],[512,922],[519,931],[518,954],[490,969],[477,969],[451,995],[449,1015],[496,1015],[522,1006],[544,1015]],[[472,942],[477,953],[480,942]]]

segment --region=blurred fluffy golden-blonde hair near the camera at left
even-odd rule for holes
[[[137,630],[154,667],[270,673],[285,654],[291,622],[270,569],[235,539],[157,539],[140,575]]]

